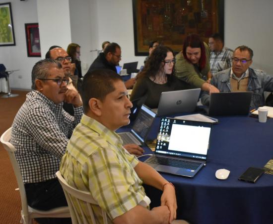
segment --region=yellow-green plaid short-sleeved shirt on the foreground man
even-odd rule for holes
[[[118,134],[83,114],[60,165],[68,184],[89,191],[111,220],[145,198],[142,181],[134,170],[138,160],[122,144]]]

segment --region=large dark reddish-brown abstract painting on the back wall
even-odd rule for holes
[[[224,0],[133,0],[133,18],[136,56],[155,40],[179,52],[189,34],[224,36]]]

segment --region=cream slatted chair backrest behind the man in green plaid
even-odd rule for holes
[[[72,224],[81,224],[82,222],[83,224],[89,224],[88,220],[86,219],[86,215],[90,216],[92,220],[92,224],[96,224],[94,212],[91,205],[98,205],[98,204],[93,199],[90,192],[80,191],[68,185],[67,181],[64,179],[60,171],[58,171],[56,175],[63,187],[66,199],[68,201],[68,208],[70,211]],[[86,205],[89,214],[84,214],[84,211],[82,207],[80,206],[80,201],[81,203],[84,203]],[[80,211],[80,214],[78,213],[78,210],[76,208],[78,208],[78,210]],[[101,209],[101,214],[103,217],[103,223],[107,224],[107,215],[102,209]]]

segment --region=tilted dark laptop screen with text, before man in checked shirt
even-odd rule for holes
[[[131,130],[140,141],[144,142],[155,115],[156,113],[152,112],[145,105],[141,106]]]

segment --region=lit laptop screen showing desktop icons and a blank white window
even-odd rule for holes
[[[206,160],[211,123],[161,118],[155,153]]]

